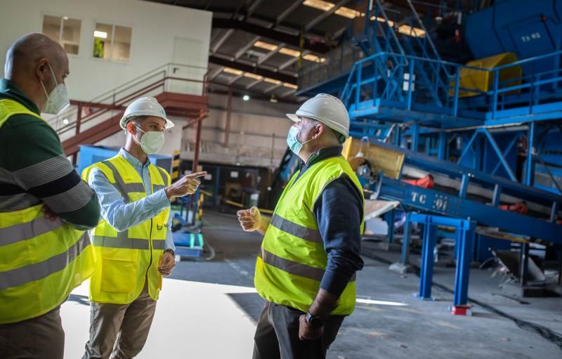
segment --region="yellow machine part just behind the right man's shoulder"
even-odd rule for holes
[[[358,152],[362,152],[371,164],[371,169],[374,173],[383,171],[384,175],[390,178],[398,179],[400,177],[400,170],[404,163],[404,153],[395,150],[389,150],[377,143],[368,143],[360,141],[357,138],[348,138],[344,143],[344,150],[342,155],[348,160],[353,168],[357,169],[355,162],[358,162]],[[354,165],[355,164],[355,165]]]

